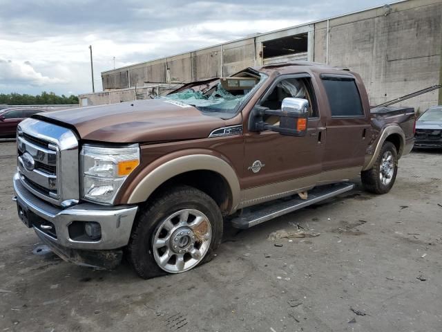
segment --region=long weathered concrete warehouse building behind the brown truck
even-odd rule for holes
[[[308,35],[305,53],[263,59],[263,43],[300,34]],[[105,91],[186,83],[231,75],[247,66],[308,59],[356,71],[363,77],[370,102],[380,104],[438,84],[442,80],[441,49],[442,0],[408,0],[117,68],[102,73],[102,81]],[[423,111],[437,104],[438,93],[404,104]],[[98,97],[92,100],[99,102]]]

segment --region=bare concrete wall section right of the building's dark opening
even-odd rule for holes
[[[326,48],[323,21],[315,24],[316,62],[326,62]],[[441,48],[442,1],[404,1],[329,20],[329,64],[359,73],[373,105],[439,84]],[[424,111],[437,103],[433,91],[403,105]]]

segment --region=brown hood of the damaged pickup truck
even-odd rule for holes
[[[119,104],[39,113],[35,118],[75,127],[81,139],[100,142],[158,142],[206,138],[225,121],[173,100]]]

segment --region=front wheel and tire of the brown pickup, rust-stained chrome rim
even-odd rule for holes
[[[140,212],[128,244],[128,260],[144,279],[182,273],[213,258],[222,239],[222,214],[210,196],[173,187]]]

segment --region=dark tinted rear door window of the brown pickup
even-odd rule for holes
[[[361,97],[353,79],[325,77],[323,84],[332,116],[363,116]]]

